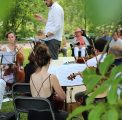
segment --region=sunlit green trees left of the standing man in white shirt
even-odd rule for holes
[[[5,3],[7,4],[7,2]],[[2,4],[0,4],[0,6]],[[45,10],[46,6],[43,5],[43,2],[38,0],[13,0],[11,1],[11,6],[7,15],[4,15],[4,13],[2,14],[4,15],[4,20],[0,21],[3,22],[0,28],[0,32],[2,33],[0,37],[2,39],[5,33],[10,30],[14,31],[18,37],[22,38],[32,37],[38,29],[43,28],[44,25],[34,18],[35,13],[47,15],[47,10]]]

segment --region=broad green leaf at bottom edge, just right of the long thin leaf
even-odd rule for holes
[[[106,111],[105,104],[101,103],[94,107],[88,116],[89,120],[100,120],[100,116]]]

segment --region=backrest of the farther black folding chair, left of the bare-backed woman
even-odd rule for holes
[[[31,96],[29,83],[15,83],[12,86],[12,97],[16,96]]]

